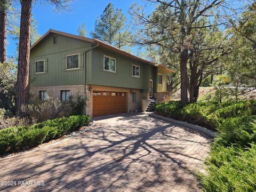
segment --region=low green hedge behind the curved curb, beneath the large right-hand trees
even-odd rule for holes
[[[256,115],[256,100],[239,102],[196,102],[182,106],[180,101],[155,105],[156,113],[217,130],[225,119]]]

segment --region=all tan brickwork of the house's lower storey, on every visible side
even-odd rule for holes
[[[85,87],[85,90],[84,90]],[[92,88],[92,91],[89,91],[89,88]],[[125,92],[127,95],[127,113],[130,111],[146,111],[150,100],[149,93],[143,93],[141,90],[137,89],[127,89],[122,87],[111,87],[111,86],[100,86],[100,85],[62,85],[62,86],[37,86],[30,87],[29,91],[35,97],[39,97],[39,91],[47,91],[47,95],[49,97],[59,98],[60,99],[60,91],[61,90],[70,90],[70,95],[73,96],[74,100],[76,100],[77,95],[81,95],[81,97],[86,98],[85,105],[85,114],[92,116],[93,109],[93,91],[113,91],[113,92]],[[136,101],[132,101],[132,92],[136,94]],[[159,102],[168,102],[171,100],[171,95],[169,92],[157,92],[154,93],[154,98],[156,98],[156,103]],[[63,110],[61,111],[62,116],[68,115],[70,112],[70,106],[68,102],[62,102]]]

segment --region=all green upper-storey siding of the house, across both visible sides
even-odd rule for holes
[[[53,36],[57,44],[53,44]],[[96,47],[90,42],[49,34],[30,52],[30,86],[93,84],[125,87],[149,91],[149,79],[153,79],[156,90],[154,66],[126,57],[114,51]],[[79,69],[66,70],[67,55],[79,54]],[[116,59],[116,73],[103,69],[104,55]],[[35,74],[35,61],[45,60],[45,73]],[[132,76],[132,65],[140,66],[140,77]]]

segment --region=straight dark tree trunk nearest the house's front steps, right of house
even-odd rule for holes
[[[183,105],[188,103],[187,60],[188,49],[185,48],[180,54],[180,100]]]

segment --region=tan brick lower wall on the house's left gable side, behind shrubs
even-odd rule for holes
[[[39,98],[39,91],[47,91],[47,95],[53,98],[61,97],[60,91],[62,90],[70,90],[70,95],[74,98],[74,101],[77,98],[77,95],[80,95],[84,98],[84,85],[62,85],[62,86],[36,86],[36,87],[29,87],[29,92],[34,97]],[[61,116],[68,115],[71,110],[69,103],[66,101],[62,102],[62,111],[60,113]]]

